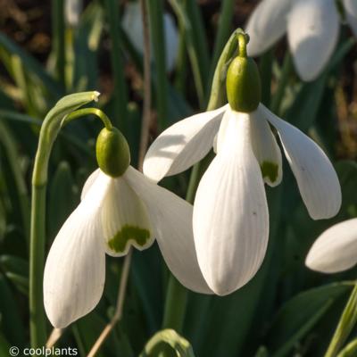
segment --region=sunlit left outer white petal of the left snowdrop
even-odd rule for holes
[[[110,179],[100,175],[54,239],[44,273],[46,314],[65,328],[99,302],[104,288],[105,253],[100,208]]]

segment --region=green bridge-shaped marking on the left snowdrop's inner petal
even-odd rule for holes
[[[129,241],[137,242],[137,245],[144,246],[150,238],[150,231],[145,228],[123,226],[121,230],[108,241],[109,247],[116,253],[125,251]]]

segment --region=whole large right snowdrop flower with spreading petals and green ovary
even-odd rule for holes
[[[181,120],[149,148],[144,173],[159,181],[187,170],[211,150],[216,157],[203,174],[194,204],[198,263],[208,286],[227,295],[244,286],[260,268],[269,236],[264,182],[282,179],[282,159],[270,125],[278,130],[286,159],[314,220],[338,212],[341,190],[328,157],[311,138],[260,104],[260,79],[246,57],[240,34],[239,56],[228,67],[228,104]]]

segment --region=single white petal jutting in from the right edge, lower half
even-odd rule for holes
[[[324,273],[347,270],[357,263],[357,219],[325,230],[307,254],[307,267]]]

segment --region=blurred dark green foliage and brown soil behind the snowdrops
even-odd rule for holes
[[[245,27],[258,3],[147,2],[152,40],[150,142],[173,122],[205,110],[220,52],[231,32]],[[0,356],[6,356],[11,345],[29,345],[30,178],[42,120],[63,95],[97,90],[102,94],[98,106],[128,138],[136,166],[144,82],[137,2],[0,0],[0,9]],[[285,162],[283,183],[267,187],[270,246],[257,276],[225,297],[188,295],[184,328],[178,332],[196,356],[316,357],[326,350],[357,269],[326,276],[305,268],[304,259],[320,232],[357,216],[356,54],[355,38],[343,25],[328,68],[308,83],[292,68],[276,108],[280,117],[317,141],[334,163],[343,189],[341,211],[332,220],[311,220]],[[257,59],[263,103],[268,106],[288,56],[283,37]],[[95,170],[95,137],[101,129],[97,121],[88,117],[71,123],[54,145],[46,252]],[[185,196],[188,178],[185,172],[164,179],[162,185]],[[101,302],[63,332],[58,346],[88,353],[112,317],[121,267],[121,259],[107,257]],[[136,356],[143,350],[162,328],[168,278],[156,245],[134,253],[123,318],[98,355]]]

